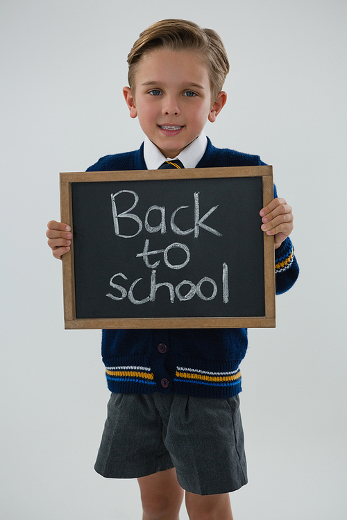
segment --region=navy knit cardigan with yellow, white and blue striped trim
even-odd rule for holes
[[[139,150],[101,157],[87,171],[146,170]],[[196,168],[260,166],[258,155],[208,146]],[[276,197],[275,188],[275,197]],[[287,238],[276,250],[276,294],[298,277]],[[246,354],[246,329],[104,330],[103,363],[111,392],[176,392],[198,397],[231,397],[241,392],[239,364]]]

